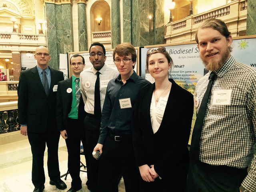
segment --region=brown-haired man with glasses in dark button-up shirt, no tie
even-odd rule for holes
[[[137,60],[135,48],[122,43],[113,51],[120,75],[108,83],[102,110],[100,137],[94,151],[100,151],[100,192],[118,192],[122,174],[126,192],[139,192],[139,170],[132,147],[132,110],[138,91],[151,83],[133,70]]]

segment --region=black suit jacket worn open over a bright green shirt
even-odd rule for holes
[[[68,130],[68,114],[71,110],[72,105],[72,92],[68,93],[67,89],[72,88],[72,77],[58,82],[58,91],[57,91],[57,127],[58,130]],[[86,116],[86,112],[84,111],[84,101],[82,95],[80,96],[80,104],[78,108],[78,120],[83,122]]]

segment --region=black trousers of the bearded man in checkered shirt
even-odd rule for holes
[[[187,192],[240,192],[247,168],[212,166],[199,162],[190,166]]]

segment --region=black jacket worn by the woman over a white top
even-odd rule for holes
[[[154,134],[150,119],[150,103],[155,84],[140,90],[134,106],[132,140],[136,165],[154,165],[164,178],[188,171],[188,140],[194,111],[193,95],[174,80],[158,131]]]

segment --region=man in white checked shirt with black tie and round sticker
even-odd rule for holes
[[[92,192],[98,192],[98,161],[93,158],[92,152],[98,142],[100,134],[101,110],[105,99],[108,82],[118,76],[115,68],[105,65],[106,50],[103,44],[95,42],[89,49],[89,60],[92,67],[80,74],[80,90],[85,103],[84,118],[86,134],[86,148],[88,154],[86,185]],[[98,81],[97,81],[98,79]],[[97,86],[98,85],[98,86]],[[95,99],[97,98],[97,99]],[[94,110],[98,108],[98,111]]]

